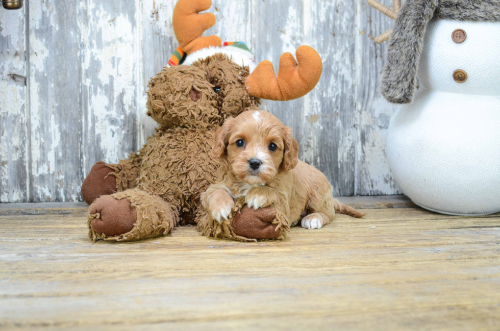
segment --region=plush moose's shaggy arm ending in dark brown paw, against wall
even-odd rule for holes
[[[90,205],[99,196],[133,188],[139,175],[139,163],[139,155],[132,153],[129,159],[118,164],[103,161],[94,164],[82,184],[85,202]]]

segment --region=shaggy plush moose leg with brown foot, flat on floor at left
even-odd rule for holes
[[[89,238],[133,241],[170,233],[177,210],[160,197],[138,189],[97,198],[88,211]]]

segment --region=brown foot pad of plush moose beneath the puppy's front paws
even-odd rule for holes
[[[254,239],[274,239],[280,236],[282,229],[272,224],[276,212],[272,207],[257,210],[244,206],[233,218],[233,231],[238,236]]]

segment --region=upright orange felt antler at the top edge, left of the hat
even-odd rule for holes
[[[211,0],[179,0],[173,9],[173,32],[182,50],[187,54],[208,46],[221,46],[218,36],[202,37],[215,24],[212,13],[199,14],[212,6]]]

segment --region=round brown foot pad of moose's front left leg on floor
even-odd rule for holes
[[[127,199],[115,199],[105,195],[89,207],[89,227],[99,235],[107,237],[119,236],[130,232],[137,220],[137,211]]]

